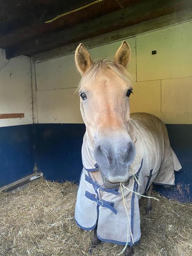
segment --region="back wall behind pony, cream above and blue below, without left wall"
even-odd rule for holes
[[[130,97],[131,112],[152,113],[167,124],[170,143],[184,170],[176,174],[176,184],[183,189],[182,196],[178,187],[164,192],[170,193],[170,197],[183,197],[183,200],[190,200],[192,183],[191,31],[192,21],[189,21],[126,39],[132,50],[128,67],[134,91]],[[94,47],[89,52],[93,59],[113,60],[121,42]],[[157,54],[152,55],[154,50]],[[71,177],[78,181],[82,167],[79,143],[82,143],[85,127],[75,93],[80,76],[74,64],[74,53],[37,61],[34,66],[37,88],[34,118],[41,123],[40,148],[49,156],[41,155],[40,168],[47,179]]]

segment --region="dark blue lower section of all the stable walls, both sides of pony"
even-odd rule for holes
[[[183,170],[174,189],[155,189],[169,198],[191,200],[192,125],[167,125],[171,146]],[[33,172],[34,164],[48,180],[78,182],[82,169],[84,124],[36,124],[0,128],[0,186]]]

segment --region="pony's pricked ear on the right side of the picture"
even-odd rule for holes
[[[115,54],[114,62],[121,64],[126,68],[131,60],[131,48],[126,41],[123,41]]]

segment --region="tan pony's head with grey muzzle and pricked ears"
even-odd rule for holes
[[[131,51],[123,41],[114,61],[93,62],[83,44],[75,52],[82,75],[79,83],[81,114],[94,148],[105,187],[129,183],[129,166],[135,158],[135,145],[128,134],[129,97],[132,87],[126,66]]]

